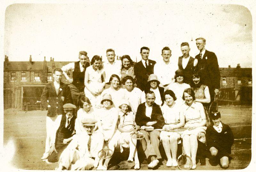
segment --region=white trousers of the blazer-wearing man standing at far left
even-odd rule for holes
[[[46,116],[46,141],[44,155],[48,155],[51,144],[55,143],[56,131],[60,127],[61,117],[62,115],[56,115],[54,117]]]

